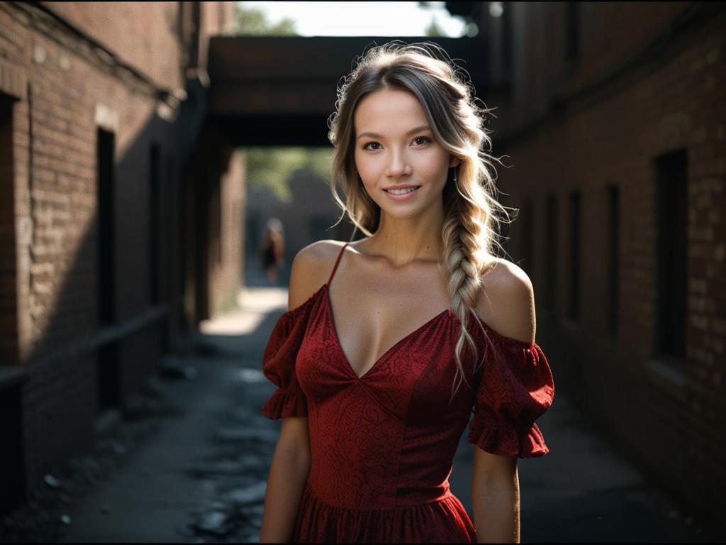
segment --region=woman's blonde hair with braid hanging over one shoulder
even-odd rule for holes
[[[502,211],[503,216],[509,218],[505,207],[495,198],[497,190],[490,172],[490,168],[494,171],[492,161],[499,159],[489,156],[485,150],[491,148],[491,140],[483,126],[484,115],[489,110],[478,107],[473,87],[463,70],[436,44],[392,42],[370,49],[359,59],[354,70],[338,86],[335,113],[328,123],[328,137],[335,146],[330,187],[335,202],[343,209],[338,222],[347,215],[368,236],[378,228],[380,208],[363,189],[356,169],[354,113],[363,97],[387,88],[412,92],[421,103],[436,140],[461,161],[459,166],[449,169],[441,230],[443,262],[449,275],[450,308],[461,323],[456,344],[457,373],[452,385],[453,396],[462,379],[465,380],[462,355],[466,344],[473,352],[475,371],[480,365],[467,325],[469,315],[477,318],[475,307],[481,289],[481,273],[494,255],[494,246],[501,248],[493,227],[494,222],[502,219],[494,210]],[[346,201],[338,195],[338,184]],[[478,319],[476,323],[479,323]],[[486,331],[484,334],[486,336]]]

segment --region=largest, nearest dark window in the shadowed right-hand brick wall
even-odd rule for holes
[[[688,283],[688,155],[685,150],[656,159],[658,222],[658,355],[685,360]]]

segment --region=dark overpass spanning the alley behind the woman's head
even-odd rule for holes
[[[218,36],[209,44],[209,116],[235,146],[330,145],[327,118],[340,78],[357,55],[391,37]],[[488,89],[489,52],[475,38],[433,41],[470,73],[479,97]]]

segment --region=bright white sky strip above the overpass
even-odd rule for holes
[[[295,21],[301,36],[425,36],[425,29],[436,23],[448,36],[461,36],[464,21],[452,17],[444,2],[349,2],[349,1],[242,1],[242,6],[266,12],[270,23],[283,17]]]

